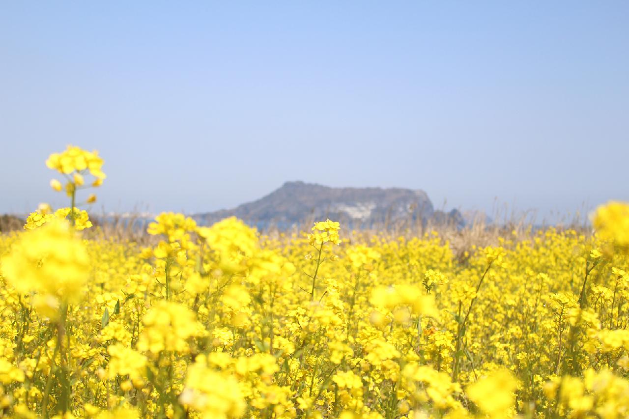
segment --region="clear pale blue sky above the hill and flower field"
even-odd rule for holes
[[[445,208],[629,200],[629,3],[3,2],[0,212],[96,148],[107,211],[209,211],[284,181]]]

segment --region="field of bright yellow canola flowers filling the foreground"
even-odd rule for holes
[[[174,213],[142,247],[81,209],[96,152],[47,165],[69,207],[0,236],[0,415],[629,417],[628,204],[462,258],[436,233]]]

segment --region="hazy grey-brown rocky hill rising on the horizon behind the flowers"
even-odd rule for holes
[[[437,220],[462,225],[459,211],[435,211],[421,190],[397,187],[328,187],[304,182],[286,182],[257,201],[231,210],[193,215],[201,225],[237,216],[252,225],[291,226],[330,218],[352,226],[372,226],[386,221]]]

